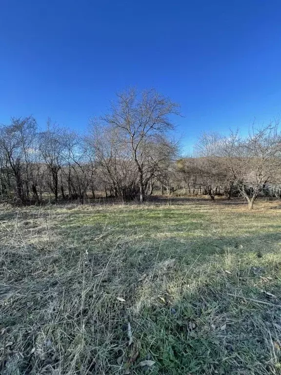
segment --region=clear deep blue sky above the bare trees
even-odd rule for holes
[[[181,104],[198,132],[281,112],[280,0],[3,0],[0,122],[84,129],[127,85]]]

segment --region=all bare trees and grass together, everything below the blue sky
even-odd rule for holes
[[[281,374],[279,124],[182,156],[178,115],[0,126],[1,374]]]

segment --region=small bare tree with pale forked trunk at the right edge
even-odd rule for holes
[[[223,154],[249,209],[266,187],[274,182],[281,167],[281,134],[278,122],[260,129],[253,127],[245,138],[238,132],[224,139]]]

